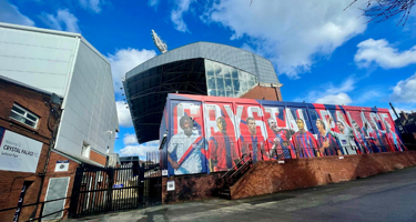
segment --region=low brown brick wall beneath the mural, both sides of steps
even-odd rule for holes
[[[324,157],[314,159],[257,162],[231,186],[232,199],[262,195],[285,190],[325,185],[366,178],[416,165],[416,151],[373,153],[366,155]],[[162,203],[206,200],[217,195],[221,174],[182,175],[162,179]],[[168,191],[166,182],[175,190]],[[216,184],[217,183],[217,184]]]

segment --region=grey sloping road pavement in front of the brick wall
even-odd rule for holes
[[[416,221],[416,168],[355,181],[252,196],[210,199],[65,222]]]

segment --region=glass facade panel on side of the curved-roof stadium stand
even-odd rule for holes
[[[205,59],[207,94],[237,98],[258,83],[248,72]]]

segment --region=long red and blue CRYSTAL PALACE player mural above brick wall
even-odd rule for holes
[[[163,128],[163,129],[162,129]],[[253,162],[406,150],[387,109],[170,94],[162,168],[170,175]]]

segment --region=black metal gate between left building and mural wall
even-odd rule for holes
[[[140,167],[77,169],[70,216],[125,211],[162,203],[159,153],[148,153]]]

